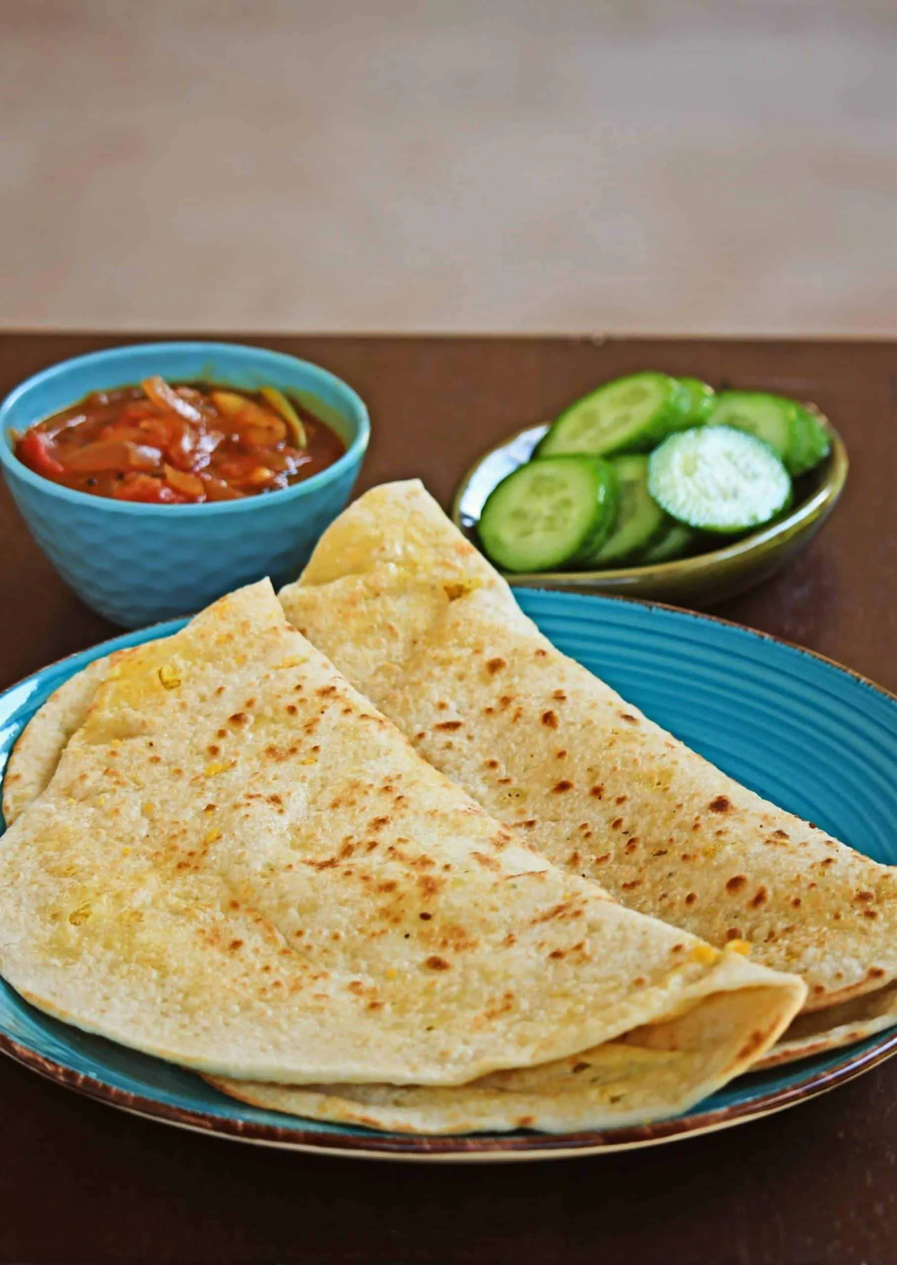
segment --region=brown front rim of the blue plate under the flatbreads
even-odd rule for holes
[[[118,1089],[95,1077],[75,1071],[65,1064],[37,1054],[13,1037],[0,1034],[0,1052],[9,1055],[16,1063],[39,1073],[56,1084],[75,1089],[99,1102],[135,1112],[153,1120],[172,1125],[196,1128],[242,1141],[269,1142],[278,1146],[301,1146],[321,1151],[380,1152],[383,1155],[472,1155],[507,1154],[517,1151],[563,1152],[595,1150],[601,1146],[620,1149],[622,1146],[644,1146],[690,1133],[703,1132],[725,1125],[734,1125],[744,1118],[755,1118],[784,1107],[796,1106],[808,1098],[834,1089],[854,1077],[870,1071],[879,1063],[897,1054],[897,1032],[888,1032],[862,1055],[849,1056],[824,1073],[813,1073],[784,1089],[773,1090],[750,1102],[721,1107],[717,1111],[697,1116],[683,1116],[649,1125],[633,1125],[619,1130],[595,1130],[581,1133],[525,1133],[520,1136],[448,1136],[435,1135],[396,1135],[396,1133],[323,1133],[318,1130],[291,1128],[280,1125],[262,1125],[234,1117],[216,1116],[194,1108],[176,1107],[156,1098]]]

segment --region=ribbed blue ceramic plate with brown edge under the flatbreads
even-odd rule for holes
[[[834,663],[720,620],[611,597],[538,589],[517,597],[560,650],[740,782],[875,860],[897,861],[897,698]],[[120,636],[6,691],[0,696],[0,768],[63,681],[101,654],[164,636],[182,622]],[[261,1111],[219,1094],[192,1073],[67,1027],[3,983],[0,1049],[125,1111],[223,1137],[352,1156],[523,1160],[673,1141],[779,1111],[897,1052],[897,1031],[743,1077],[674,1120],[562,1136],[411,1137]]]

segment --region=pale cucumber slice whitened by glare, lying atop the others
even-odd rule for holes
[[[724,534],[768,522],[791,497],[788,472],[767,444],[715,425],[664,440],[650,455],[648,487],[679,522]]]

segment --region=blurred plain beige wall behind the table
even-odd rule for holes
[[[0,0],[0,324],[897,334],[897,8]]]

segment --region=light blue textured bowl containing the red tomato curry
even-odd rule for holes
[[[16,459],[10,431],[76,404],[90,391],[161,373],[296,396],[345,441],[347,452],[304,483],[207,505],[142,505],[73,492]],[[343,510],[368,444],[367,409],[333,373],[292,355],[233,343],[143,343],[63,361],[0,407],[0,462],[28,528],[78,597],[113,624],[142,627],[201,610],[271,576],[292,579]]]

